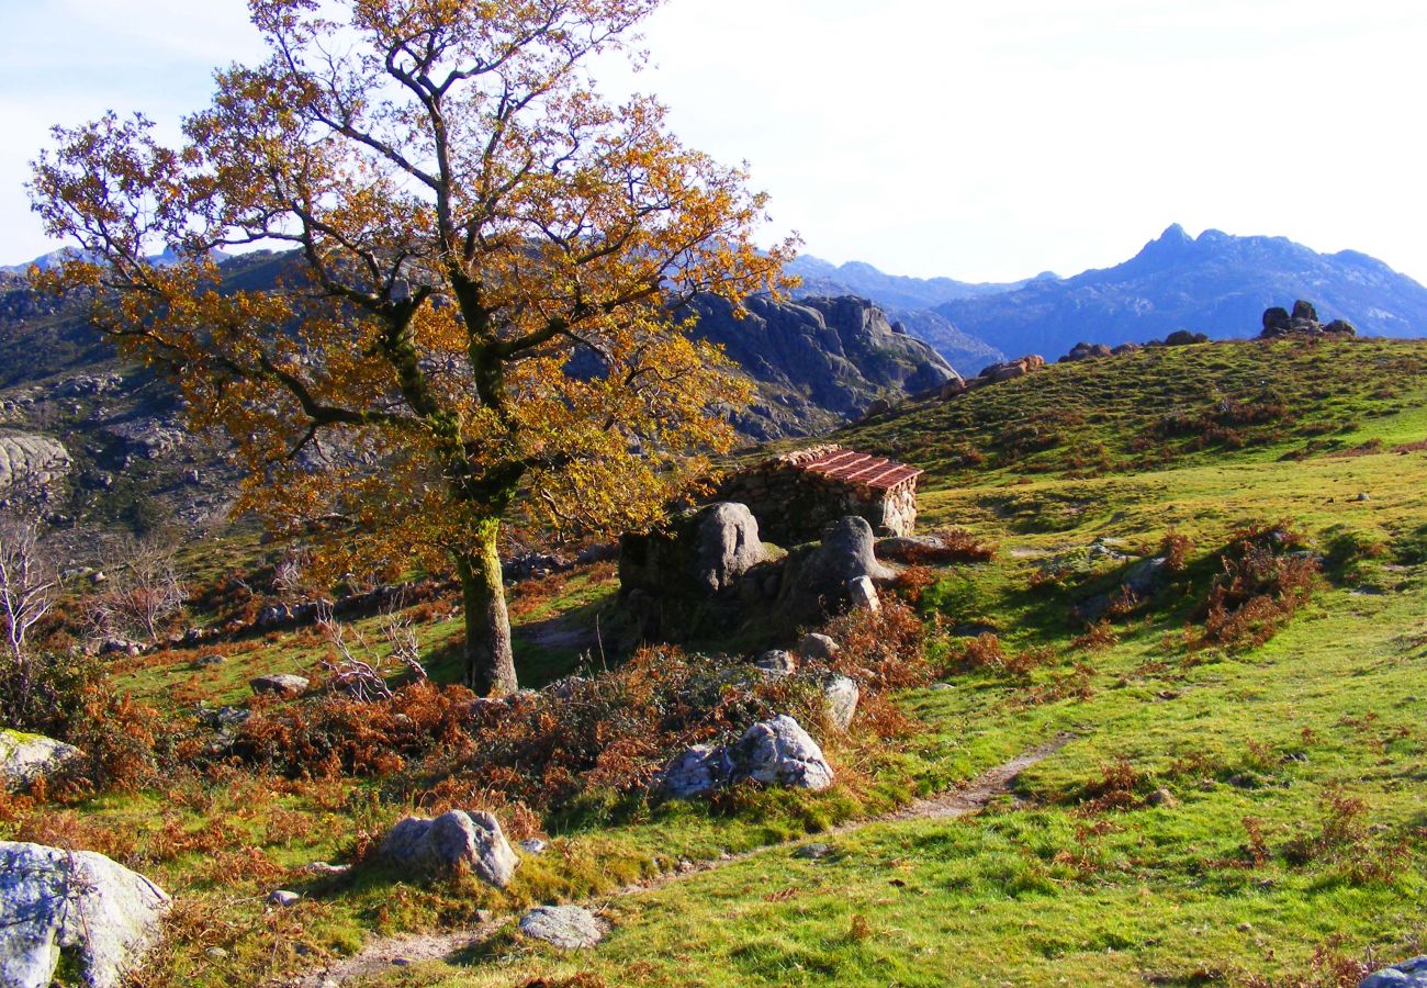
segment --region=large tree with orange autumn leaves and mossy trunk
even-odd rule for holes
[[[110,114],[34,164],[77,248],[40,283],[174,371],[245,460],[240,507],[317,527],[334,565],[448,560],[481,694],[517,687],[512,503],[558,531],[654,521],[749,397],[684,303],[776,287],[791,254],[758,251],[742,170],[595,93],[591,60],[636,60],[659,3],[250,0],[271,54],[215,74],[181,147]],[[295,250],[284,290],[220,284],[211,251],[244,244]]]

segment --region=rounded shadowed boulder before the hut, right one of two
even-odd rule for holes
[[[895,574],[878,563],[873,544],[868,520],[849,515],[828,525],[816,547],[791,553],[778,598],[782,617],[811,624],[853,603],[850,587],[859,577],[890,580]]]

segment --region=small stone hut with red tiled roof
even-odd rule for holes
[[[920,475],[895,460],[816,445],[732,474],[718,498],[746,504],[762,537],[779,545],[816,541],[848,515],[866,518],[879,535],[910,535]]]

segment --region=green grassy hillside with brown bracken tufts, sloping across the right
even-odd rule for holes
[[[492,774],[442,788],[430,760],[307,778],[234,761],[11,801],[0,835],[96,847],[174,892],[156,984],[278,982],[455,928],[474,945],[392,965],[415,951],[394,941],[361,982],[1353,985],[1427,939],[1424,408],[1427,343],[1207,344],[839,437],[926,467],[925,525],[999,550],[903,581],[940,688],[885,681],[848,737],[822,735],[839,785],[818,797],[656,805],[589,785],[544,810]],[[1126,594],[1160,557],[1154,593]],[[549,622],[592,624],[612,588],[605,567],[522,591],[531,654],[578,662]],[[440,655],[454,624],[417,617]],[[121,682],[177,732],[194,702],[245,702],[250,671],[311,670],[324,644],[208,650],[225,664],[126,660]],[[886,817],[1057,738],[979,814]],[[505,892],[370,862],[432,792],[554,850]],[[819,837],[833,827],[850,830]],[[812,841],[831,847],[796,857]],[[358,867],[320,878],[317,860]],[[652,875],[672,879],[619,894]],[[267,908],[278,887],[305,898]],[[514,931],[519,907],[565,899],[604,911],[605,944],[558,955]]]

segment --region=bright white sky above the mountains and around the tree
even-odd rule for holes
[[[243,0],[0,0],[0,263],[51,250],[29,161],[114,109],[166,127],[261,54]],[[1170,223],[1360,250],[1427,283],[1420,0],[668,0],[651,66],[775,233],[895,274],[1005,281]]]

